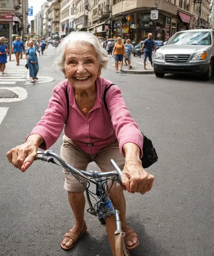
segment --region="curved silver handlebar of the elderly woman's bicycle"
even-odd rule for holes
[[[109,177],[109,176],[119,176],[121,179],[121,169],[118,167],[118,165],[115,163],[113,159],[111,159],[112,166],[116,169],[116,171],[112,172],[84,172],[82,170],[78,170],[74,168],[73,166],[66,163],[60,156],[58,156],[56,153],[54,153],[51,150],[46,151],[38,151],[37,156],[35,157],[35,160],[42,160],[46,161],[48,163],[55,163],[54,158],[60,163],[60,165],[65,168],[67,171],[78,174],[84,178],[91,177],[91,178],[101,178],[101,177]]]

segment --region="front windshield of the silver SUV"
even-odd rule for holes
[[[211,43],[210,32],[181,32],[167,42],[175,45],[211,45]]]

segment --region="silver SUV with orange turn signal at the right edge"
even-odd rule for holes
[[[177,32],[154,55],[154,73],[202,75],[209,80],[214,70],[214,30]]]

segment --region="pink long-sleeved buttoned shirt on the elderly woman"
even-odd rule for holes
[[[61,81],[54,87],[49,106],[30,135],[42,136],[45,142],[40,148],[46,150],[56,142],[64,128],[65,135],[88,154],[96,154],[100,149],[118,140],[121,154],[124,155],[123,145],[132,142],[139,146],[142,157],[143,137],[126,108],[120,88],[116,85],[112,85],[106,94],[108,112],[106,110],[103,92],[110,84],[112,82],[106,79],[97,78],[96,101],[91,111],[84,116],[75,102],[74,88],[67,79]],[[70,103],[68,118],[65,90],[68,92]]]

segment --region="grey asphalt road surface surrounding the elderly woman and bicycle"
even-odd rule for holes
[[[25,173],[6,159],[40,120],[53,87],[64,76],[54,70],[56,49],[39,58],[47,84],[17,83],[28,98],[9,107],[0,125],[0,255],[110,256],[105,226],[86,213],[88,232],[73,250],[60,248],[74,218],[61,168],[35,162]],[[140,246],[131,256],[214,256],[214,80],[166,75],[116,74],[113,60],[102,73],[122,91],[132,117],[152,139],[158,162],[146,195],[126,194],[127,222]],[[61,137],[51,149],[60,153]],[[98,168],[92,163],[90,169]]]

